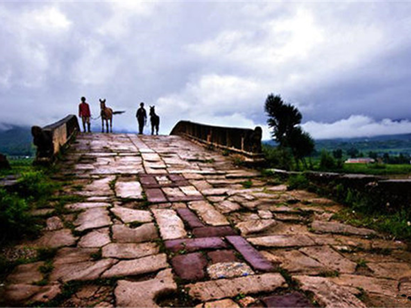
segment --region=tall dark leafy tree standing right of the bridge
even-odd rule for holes
[[[290,148],[298,168],[302,161],[306,166],[304,157],[311,155],[314,150],[314,141],[308,132],[300,126],[303,118],[298,109],[291,104],[286,104],[279,95],[269,94],[265,111],[268,115],[268,126],[272,128],[271,136],[282,148]]]

